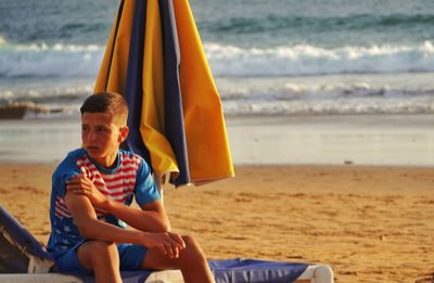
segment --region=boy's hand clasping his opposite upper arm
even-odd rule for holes
[[[95,207],[104,208],[107,202],[107,197],[85,175],[77,175],[71,178],[66,182],[66,190],[74,194],[86,195]]]

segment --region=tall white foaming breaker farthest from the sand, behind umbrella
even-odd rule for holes
[[[205,43],[217,77],[278,77],[328,74],[426,73],[434,70],[434,44],[341,47],[308,44],[241,48]],[[0,78],[94,78],[104,47],[11,44],[0,38]],[[182,59],[181,59],[182,61]]]

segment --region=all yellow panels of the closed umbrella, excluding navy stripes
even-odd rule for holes
[[[164,1],[164,0],[161,0]],[[141,4],[141,3],[140,3]],[[184,137],[188,153],[188,181],[201,184],[233,177],[233,166],[226,133],[221,103],[210,74],[205,53],[194,24],[188,1],[173,2],[176,34],[180,50],[179,83],[182,101]],[[95,92],[114,91],[126,95],[132,21],[137,9],[135,0],[122,1],[118,16],[113,25]],[[148,162],[155,175],[176,179],[180,169],[173,146],[166,139],[165,81],[162,39],[161,5],[157,0],[145,3],[144,52],[141,75],[141,113],[137,121],[143,144],[149,151]],[[175,24],[175,23],[174,23]],[[130,105],[135,107],[137,105]],[[179,160],[180,162],[180,160]],[[182,169],[182,168],[181,168]]]

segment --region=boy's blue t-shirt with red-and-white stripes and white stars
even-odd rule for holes
[[[64,200],[66,181],[79,173],[92,180],[101,193],[128,206],[132,198],[136,198],[139,206],[159,198],[150,167],[140,156],[119,150],[116,166],[113,169],[106,169],[94,163],[84,149],[71,152],[52,177],[51,235],[48,249],[54,257],[63,255],[84,241]],[[100,220],[122,228],[126,227],[123,221],[103,209],[95,208],[95,213]]]

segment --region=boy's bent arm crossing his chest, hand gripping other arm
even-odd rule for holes
[[[159,200],[143,205],[141,209],[136,209],[106,197],[84,175],[72,178],[66,183],[66,191],[87,196],[95,207],[105,209],[138,230],[145,232],[170,231],[166,210]]]

